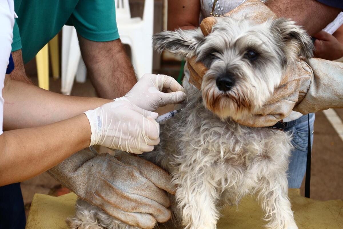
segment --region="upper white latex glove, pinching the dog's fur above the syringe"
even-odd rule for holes
[[[129,101],[147,111],[155,111],[185,98],[184,88],[173,77],[146,73],[126,95],[114,101]]]

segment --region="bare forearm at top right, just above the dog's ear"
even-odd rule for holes
[[[332,22],[340,9],[329,7],[316,0],[268,0],[266,5],[279,17],[291,18],[314,35]]]

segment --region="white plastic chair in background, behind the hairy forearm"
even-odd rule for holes
[[[143,18],[131,18],[129,0],[116,1],[116,21],[121,42],[131,47],[132,64],[137,78],[152,73],[152,34],[154,25],[154,0],[145,0]],[[62,28],[61,92],[70,95],[76,81],[85,82],[86,68],[81,57],[76,30],[73,26]]]

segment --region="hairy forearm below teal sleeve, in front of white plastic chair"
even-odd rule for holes
[[[137,79],[120,39],[94,42],[78,37],[88,76],[98,96],[115,99],[125,95]]]

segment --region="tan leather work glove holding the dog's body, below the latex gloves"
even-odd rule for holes
[[[171,177],[157,165],[127,153],[112,156],[83,149],[48,173],[83,200],[126,224],[150,229],[171,214]],[[165,191],[163,191],[165,190]]]

